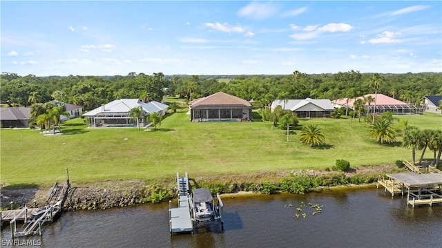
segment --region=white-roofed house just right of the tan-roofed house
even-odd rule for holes
[[[271,103],[270,110],[273,112],[277,106],[282,106],[282,110],[295,112],[298,117],[330,117],[334,110],[329,99],[277,99]]]

